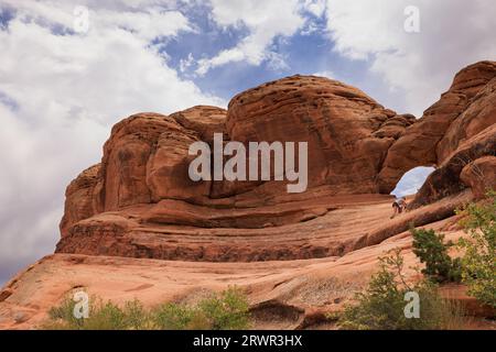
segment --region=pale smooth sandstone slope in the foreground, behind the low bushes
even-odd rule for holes
[[[375,216],[389,216],[389,202],[375,207]],[[432,209],[435,212],[435,206]],[[399,223],[403,219],[395,219]],[[432,222],[446,240],[465,235],[456,218]],[[368,228],[367,223],[356,227]],[[140,299],[147,307],[165,301],[196,302],[212,292],[236,285],[250,302],[254,328],[334,329],[327,312],[339,311],[377,271],[378,256],[401,249],[409,280],[418,278],[420,265],[411,252],[411,237],[400,232],[380,244],[343,256],[251,263],[161,261],[121,256],[53,254],[20,273],[0,292],[0,329],[40,327],[46,311],[77,290],[117,304]],[[463,304],[474,316],[486,317],[464,287],[446,287],[446,297]],[[496,329],[474,318],[467,329]]]

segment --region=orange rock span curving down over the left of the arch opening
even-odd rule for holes
[[[456,74],[450,89],[388,151],[379,190],[391,191],[413,167],[442,165],[463,141],[493,125],[495,78],[495,62],[481,62]]]

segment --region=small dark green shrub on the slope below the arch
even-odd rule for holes
[[[436,283],[461,280],[461,261],[452,260],[448,254],[453,243],[444,243],[444,234],[424,229],[411,229],[410,232],[413,237],[413,253],[425,264],[422,274]]]

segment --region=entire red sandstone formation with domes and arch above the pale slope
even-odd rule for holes
[[[378,243],[408,223],[382,229],[368,209],[384,204],[390,211],[387,194],[410,168],[436,165],[411,208],[465,195],[467,186],[478,194],[477,167],[490,184],[495,90],[496,63],[482,62],[461,70],[420,120],[313,76],[249,89],[227,111],[198,106],[132,116],[114,127],[101,163],[67,188],[56,251],[250,262],[343,255]],[[308,142],[306,191],[288,194],[282,182],[192,182],[188,146],[212,145],[214,133],[245,144]],[[456,205],[418,222],[449,217]],[[343,219],[381,230],[355,231]]]

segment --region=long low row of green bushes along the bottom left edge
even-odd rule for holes
[[[248,300],[241,290],[228,288],[195,306],[164,304],[147,310],[139,300],[127,301],[122,308],[101,299],[89,300],[87,319],[76,319],[76,302],[66,297],[48,311],[42,329],[50,330],[186,330],[246,329],[249,327]]]

